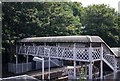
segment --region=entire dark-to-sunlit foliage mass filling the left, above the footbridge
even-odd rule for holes
[[[3,53],[13,54],[15,41],[25,37],[80,35],[81,33],[79,18],[81,4],[3,2],[2,6]]]

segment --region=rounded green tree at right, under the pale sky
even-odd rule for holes
[[[120,46],[117,12],[107,5],[92,5],[85,8],[82,15],[82,34],[98,35],[110,46]]]

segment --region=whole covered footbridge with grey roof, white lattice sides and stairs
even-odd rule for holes
[[[102,79],[104,71],[117,71],[116,54],[99,36],[52,36],[32,37],[16,44],[16,65],[19,55],[73,61],[73,76],[76,79],[76,62],[86,63],[88,79],[93,79],[93,64],[99,69]],[[50,66],[49,66],[50,67]],[[16,70],[17,70],[16,66]]]

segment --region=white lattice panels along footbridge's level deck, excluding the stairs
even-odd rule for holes
[[[55,46],[21,46],[20,54],[28,53],[28,55],[59,58],[66,60],[89,61],[89,48],[75,48],[72,47],[55,47]],[[100,49],[94,48],[92,51],[93,59],[100,58]]]

